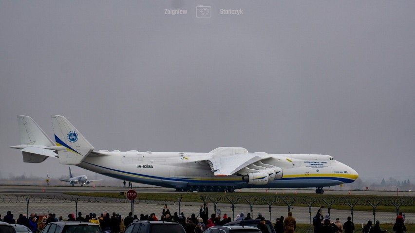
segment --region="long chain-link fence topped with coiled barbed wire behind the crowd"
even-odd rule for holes
[[[47,195],[0,195],[0,214],[3,216],[11,211],[17,218],[20,213],[29,215],[47,215],[55,213],[57,216],[68,218],[68,214],[81,212],[83,216],[89,213],[97,215],[115,212],[122,217],[130,211],[140,218],[140,214],[154,213],[158,218],[162,215],[165,205],[170,213],[184,213],[199,215],[200,208],[207,203],[208,215],[226,214],[232,220],[241,212],[245,216],[249,213],[256,218],[261,213],[265,218],[274,222],[281,215],[286,216],[288,211],[293,212],[297,223],[310,224],[320,206],[324,206],[323,215],[329,214],[331,219],[340,218],[345,222],[347,216],[359,227],[368,220],[379,220],[381,223],[394,223],[397,213],[405,206],[414,206],[415,197],[310,197],[310,196],[244,196],[244,195],[217,195],[198,193],[174,193],[171,195],[151,194],[138,195],[132,202],[127,198],[89,197],[89,196],[47,196]],[[342,207],[333,209],[332,206]],[[365,206],[369,211],[356,211],[356,207]],[[377,211],[377,207],[389,206],[390,212]],[[206,211],[206,210],[205,210]],[[406,213],[405,223],[414,223],[415,214]],[[299,229],[297,232],[308,232],[309,229]]]

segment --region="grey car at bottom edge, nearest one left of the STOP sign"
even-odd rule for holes
[[[102,233],[98,224],[91,222],[50,222],[40,233]]]

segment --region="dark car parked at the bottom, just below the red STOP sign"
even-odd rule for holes
[[[186,233],[183,226],[175,222],[134,220],[124,233]]]

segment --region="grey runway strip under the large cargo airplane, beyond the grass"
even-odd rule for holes
[[[177,193],[175,189],[170,188],[140,188],[133,187],[133,189],[140,193]],[[98,187],[98,186],[5,186],[0,185],[0,194],[14,194],[14,195],[34,195],[34,194],[45,194],[45,195],[59,195],[64,192],[75,192],[75,193],[118,193],[126,192],[129,190],[128,187]],[[239,190],[235,190],[239,192]],[[277,193],[277,194],[315,194],[315,190],[304,190],[304,189],[241,189],[241,193]],[[349,191],[340,190],[324,190],[324,194],[335,194],[335,195],[349,195]],[[415,197],[415,192],[388,192],[388,191],[351,191],[350,195],[378,195],[378,196],[405,196]]]

